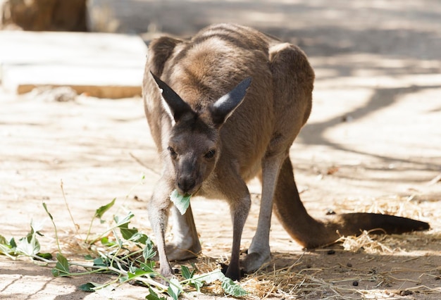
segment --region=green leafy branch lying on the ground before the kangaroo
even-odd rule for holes
[[[192,270],[182,265],[182,276],[163,277],[155,269],[156,263],[152,260],[156,256],[153,242],[151,242],[147,235],[139,232],[137,228],[130,227],[130,220],[135,216],[130,211],[122,217],[118,215],[113,216],[113,220],[105,232],[98,235],[98,237],[90,238],[94,220],[98,218],[101,223],[106,222],[103,220],[103,216],[115,202],[116,199],[113,199],[108,204],[99,207],[90,222],[84,243],[92,253],[92,255],[86,256],[85,259],[91,261],[91,263],[70,261],[63,256],[54,218],[44,203],[43,208],[54,225],[58,247],[56,258],[53,259],[51,254],[40,252],[41,246],[38,237],[43,236],[40,232],[42,227],[32,221],[30,223],[30,232],[25,237],[18,239],[17,242],[14,238],[7,240],[0,235],[0,254],[4,254],[11,259],[16,259],[18,256],[27,256],[34,261],[42,261],[46,265],[53,265],[51,273],[56,277],[81,276],[92,273],[111,273],[116,275],[114,280],[104,284],[87,282],[81,285],[80,289],[86,292],[95,292],[99,289],[113,288],[113,285],[136,281],[148,287],[149,294],[146,296],[146,299],[163,300],[166,299],[166,295],[172,299],[178,299],[181,294],[185,294],[190,289],[196,289],[197,292],[200,292],[201,287],[204,285],[220,280],[226,294],[231,296],[244,296],[247,294],[240,285],[225,277],[221,270],[197,274],[197,268],[194,265],[192,265]],[[73,223],[75,225],[75,222]],[[71,272],[70,266],[73,265],[83,268],[85,271]]]

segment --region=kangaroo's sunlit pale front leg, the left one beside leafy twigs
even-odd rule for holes
[[[166,253],[166,229],[168,222],[168,211],[171,205],[170,194],[173,189],[173,185],[170,185],[170,181],[164,180],[163,177],[159,180],[154,193],[151,196],[149,203],[147,204],[147,211],[149,213],[149,220],[151,227],[156,237],[156,248],[159,256],[160,273],[164,277],[172,277],[173,270],[168,262]]]

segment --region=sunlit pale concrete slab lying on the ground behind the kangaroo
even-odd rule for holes
[[[141,94],[146,54],[136,35],[0,31],[0,80],[17,94],[49,85],[125,98]]]

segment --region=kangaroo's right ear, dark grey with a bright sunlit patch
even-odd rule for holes
[[[235,109],[240,106],[250,84],[251,77],[245,78],[228,94],[221,96],[211,105],[210,112],[214,125],[218,127],[223,125]]]

